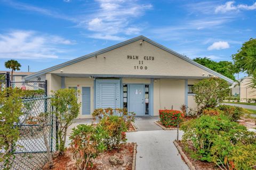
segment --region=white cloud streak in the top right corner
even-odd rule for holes
[[[224,5],[219,5],[215,8],[215,13],[226,13],[229,11],[238,11],[238,10],[256,10],[256,2],[252,5],[239,4],[234,5],[235,1],[228,1]]]

